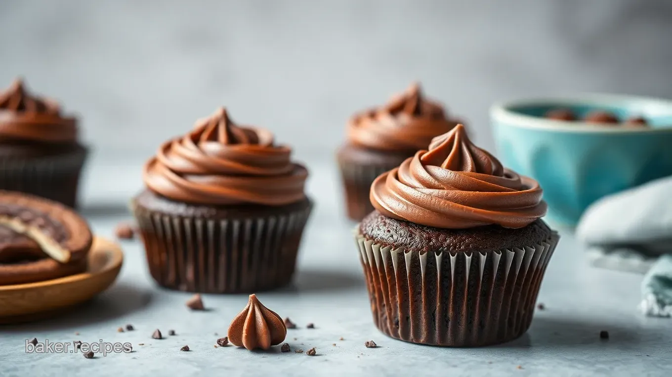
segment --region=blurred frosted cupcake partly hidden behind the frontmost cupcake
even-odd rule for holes
[[[369,189],[376,176],[457,123],[441,104],[425,98],[417,83],[388,104],[355,114],[347,124],[347,142],[337,151],[348,217],[360,221],[373,211]]]

